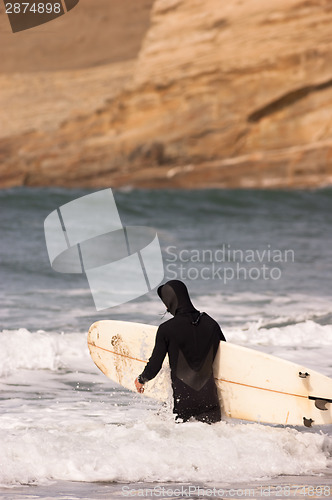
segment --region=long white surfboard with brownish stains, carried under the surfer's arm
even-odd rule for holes
[[[88,333],[91,357],[107,377],[135,391],[156,331],[141,323],[97,321]],[[325,375],[230,342],[220,342],[213,371],[224,416],[308,427],[332,423],[332,379]],[[144,394],[160,401],[170,397],[167,357]]]

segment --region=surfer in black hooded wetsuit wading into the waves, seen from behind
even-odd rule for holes
[[[168,353],[176,419],[218,422],[221,413],[212,364],[225,337],[214,319],[195,309],[182,281],[168,281],[158,288],[158,295],[174,318],[159,326],[151,358],[135,380],[136,389],[144,391],[145,382],[157,375]]]

